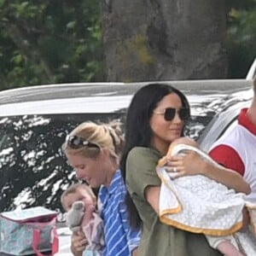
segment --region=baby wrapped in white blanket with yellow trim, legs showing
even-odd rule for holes
[[[175,178],[175,170],[168,172],[170,168],[166,168],[166,158],[186,154],[188,150],[200,154],[212,165],[218,165],[189,137],[172,142],[168,153],[156,167],[162,182],[160,220],[181,230],[205,234],[209,244],[224,255],[256,255],[256,207],[248,204],[243,194],[203,175]],[[244,207],[249,211],[251,225],[238,231],[241,230]]]

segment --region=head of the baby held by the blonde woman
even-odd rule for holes
[[[86,211],[86,207],[93,205],[96,207],[96,195],[92,189],[86,184],[76,183],[71,185],[61,195],[61,205],[65,212],[72,208],[75,201],[83,201]]]

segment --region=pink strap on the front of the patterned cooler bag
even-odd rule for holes
[[[58,253],[59,251],[59,237],[57,234],[57,230],[54,227],[52,230],[52,236],[53,236],[53,241],[52,241],[52,246],[51,246],[51,254],[50,255],[54,255],[55,253]],[[33,230],[33,241],[32,241],[32,247],[34,252],[37,254],[37,256],[46,256],[46,254],[41,253],[38,251],[38,245],[40,242],[40,230]],[[47,254],[47,256],[49,256],[49,254]]]

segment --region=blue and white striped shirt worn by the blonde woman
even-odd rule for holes
[[[106,242],[103,256],[130,256],[132,250],[138,247],[140,232],[131,230],[125,195],[125,183],[121,172],[117,170],[110,186],[102,186],[99,191]]]

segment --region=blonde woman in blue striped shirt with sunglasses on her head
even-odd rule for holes
[[[104,224],[103,256],[136,255],[139,231],[131,230],[125,207],[125,183],[119,170],[123,147],[119,122],[97,125],[85,122],[67,136],[64,152],[77,177],[99,189],[100,213]],[[74,233],[72,251],[82,255],[86,247],[82,232]]]

